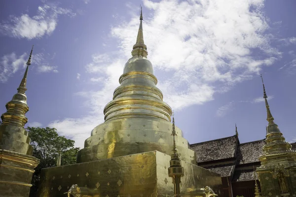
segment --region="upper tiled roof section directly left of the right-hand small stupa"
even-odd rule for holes
[[[237,149],[237,164],[249,164],[259,162],[259,156],[263,154],[262,147],[265,139],[239,144]]]

